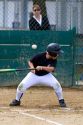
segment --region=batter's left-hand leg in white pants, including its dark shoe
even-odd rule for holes
[[[26,91],[26,89],[30,88],[31,86],[34,86],[38,84],[38,76],[35,75],[34,73],[30,72],[27,74],[27,76],[21,81],[21,83],[17,87],[17,92],[16,92],[16,99],[14,99],[11,103],[10,106],[17,106],[20,105],[20,100]]]

